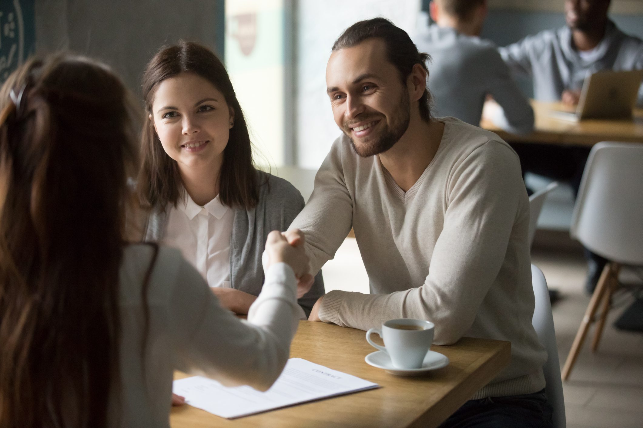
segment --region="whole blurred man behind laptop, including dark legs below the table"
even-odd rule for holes
[[[533,80],[535,99],[575,105],[588,73],[643,69],[643,41],[620,31],[608,18],[609,7],[610,0],[566,0],[566,26],[502,47],[500,55],[514,74]],[[637,105],[643,106],[643,86]],[[578,193],[590,147],[512,144],[512,148],[520,157],[523,174],[566,181]],[[587,256],[585,289],[591,293],[605,260],[589,252]]]

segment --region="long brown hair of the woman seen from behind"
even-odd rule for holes
[[[103,65],[31,60],[0,91],[0,427],[106,427],[136,150]]]

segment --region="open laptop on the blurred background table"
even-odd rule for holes
[[[599,71],[585,79],[577,107],[551,110],[552,117],[583,119],[630,119],[637,102],[643,70]]]

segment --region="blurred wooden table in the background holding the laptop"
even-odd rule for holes
[[[585,119],[579,122],[556,119],[550,111],[561,108],[561,103],[531,101],[534,107],[534,132],[514,135],[505,132],[490,121],[483,119],[480,126],[497,133],[507,142],[537,142],[593,146],[600,141],[643,142],[643,108],[637,108],[633,120]]]

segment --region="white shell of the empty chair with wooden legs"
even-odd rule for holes
[[[643,144],[593,146],[570,233],[606,259],[643,265]]]

